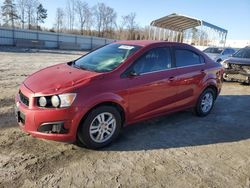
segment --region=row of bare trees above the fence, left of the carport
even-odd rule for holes
[[[2,26],[51,32],[91,35],[113,39],[147,39],[148,27],[141,28],[136,14],[123,15],[118,24],[117,12],[105,3],[90,6],[83,0],[67,0],[56,9],[52,28],[42,27],[49,16],[39,0],[4,0]]]

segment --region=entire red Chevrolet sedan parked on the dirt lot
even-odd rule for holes
[[[219,63],[187,44],[116,42],[29,76],[16,117],[35,137],[100,148],[138,121],[187,108],[206,116],[222,75]]]

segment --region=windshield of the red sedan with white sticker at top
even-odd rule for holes
[[[74,62],[74,66],[94,72],[109,72],[122,64],[140,46],[109,44]]]

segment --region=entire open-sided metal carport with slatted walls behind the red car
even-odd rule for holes
[[[226,29],[176,13],[152,21],[150,26],[149,38],[154,40],[224,46],[227,38]]]

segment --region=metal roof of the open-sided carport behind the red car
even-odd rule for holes
[[[210,24],[208,22],[205,22],[203,20],[176,14],[176,13],[154,20],[151,22],[150,25],[169,29],[169,30],[179,31],[179,32],[182,32],[186,29],[191,29],[197,26],[204,25],[214,30],[217,30],[219,32],[227,33],[227,30],[220,28],[218,26],[215,26],[213,24]]]

